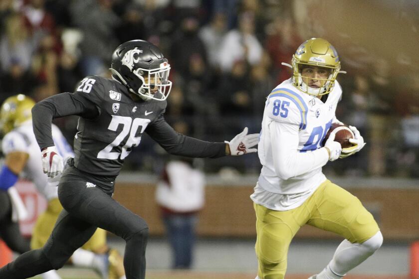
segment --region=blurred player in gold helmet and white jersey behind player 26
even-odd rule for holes
[[[32,181],[38,192],[48,202],[47,209],[36,221],[30,242],[31,249],[39,249],[51,234],[62,206],[58,200],[56,187],[59,176],[49,179],[42,171],[41,151],[32,130],[31,108],[34,104],[31,98],[22,94],[7,98],[0,110],[0,128],[4,135],[1,143],[2,151],[6,156],[5,167],[14,177],[14,183],[18,176]],[[63,158],[74,157],[70,145],[55,125],[52,126],[52,137]],[[106,231],[97,229],[82,248],[76,250],[71,257],[74,265],[93,268],[106,279],[108,276],[112,279],[125,278],[122,257],[117,254],[116,250],[109,251],[106,245]],[[42,276],[44,279],[60,278],[54,270]]]

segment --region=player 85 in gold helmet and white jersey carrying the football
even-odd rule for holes
[[[345,240],[332,260],[310,279],[340,279],[380,248],[380,229],[359,199],[322,173],[328,161],[361,150],[364,139],[350,126],[353,146],[333,132],[322,144],[342,96],[336,81],[339,56],[326,40],[311,38],[292,58],[293,75],[267,97],[258,155],[262,169],[250,196],[256,213],[256,279],[283,279],[288,247],[305,224]],[[315,257],[315,255],[313,255]]]

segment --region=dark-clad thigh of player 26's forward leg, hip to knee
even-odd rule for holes
[[[124,239],[148,228],[138,215],[126,209],[99,187],[86,187],[84,180],[62,181],[58,196],[64,209],[86,222]]]

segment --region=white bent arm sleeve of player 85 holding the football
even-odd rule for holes
[[[298,151],[297,125],[272,122],[269,125],[275,172],[283,180],[324,166],[329,160],[325,147],[312,152]]]

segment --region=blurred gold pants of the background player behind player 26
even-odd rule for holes
[[[58,215],[62,210],[62,206],[58,198],[52,199],[48,202],[46,210],[39,215],[36,224],[32,231],[32,238],[30,240],[31,249],[39,249],[49,238],[49,235],[54,228]],[[106,231],[98,228],[93,236],[86,242],[82,248],[89,251],[97,251],[106,245]]]

